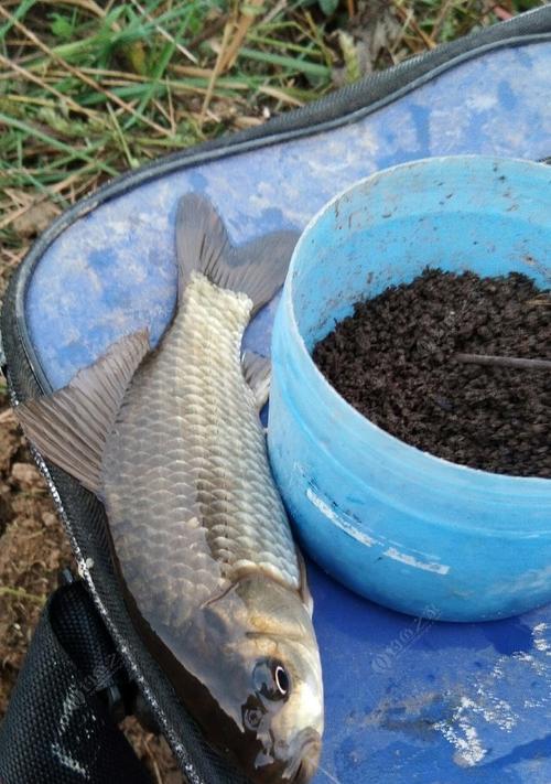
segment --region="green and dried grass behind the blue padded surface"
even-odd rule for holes
[[[0,292],[118,172],[325,95],[538,0],[3,0]]]

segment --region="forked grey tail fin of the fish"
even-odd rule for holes
[[[285,279],[299,234],[273,232],[235,248],[226,227],[205,196],[183,196],[176,216],[179,299],[192,272],[252,300],[252,314],[269,302]]]

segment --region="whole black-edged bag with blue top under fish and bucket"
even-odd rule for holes
[[[143,323],[159,339],[174,308],[183,193],[206,193],[241,243],[302,229],[334,193],[403,161],[468,152],[541,160],[551,154],[550,72],[545,7],[109,182],[44,232],[11,280],[0,354],[13,402],[63,386]],[[246,346],[269,353],[274,308],[255,319]],[[79,577],[65,574],[42,613],[0,728],[0,781],[149,782],[117,727],[139,709],[187,781],[246,784],[204,743],[137,634],[102,505],[34,457]],[[316,782],[551,781],[551,610],[437,624],[307,569],[326,691]]]

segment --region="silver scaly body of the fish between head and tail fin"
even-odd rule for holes
[[[300,587],[240,366],[250,308],[194,273],[106,447],[104,493],[123,577],[144,616],[172,629],[255,569]]]

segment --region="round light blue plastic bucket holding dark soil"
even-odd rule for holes
[[[358,182],[311,221],[272,341],[269,450],[305,550],[414,615],[505,617],[551,600],[551,481],[477,471],[410,447],[349,406],[315,343],[358,299],[425,266],[550,284],[551,169],[433,158]]]

